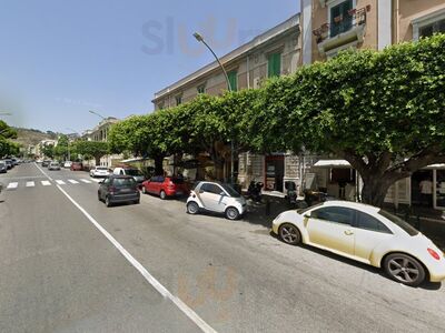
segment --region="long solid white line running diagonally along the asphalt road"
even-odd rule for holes
[[[78,204],[61,186],[57,188],[72,202],[75,206],[115,245],[115,248],[139,271],[139,273],[150,283],[165,299],[170,300],[180,311],[184,312],[202,332],[216,333],[194,310],[191,310],[180,299],[171,294],[158,280],[156,280],[140,262],[138,262],[99,222],[97,222],[80,204]]]

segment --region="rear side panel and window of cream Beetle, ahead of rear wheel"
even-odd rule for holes
[[[394,238],[393,232],[376,216],[356,211],[354,225],[355,255],[369,263],[375,248]]]

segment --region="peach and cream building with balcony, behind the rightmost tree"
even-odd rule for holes
[[[445,1],[301,0],[301,27],[303,64],[310,64],[326,61],[345,49],[383,50],[389,44],[445,32]],[[320,157],[313,161],[312,165],[301,168],[307,172],[301,179],[314,180],[312,185],[329,195],[346,200],[358,198],[360,179],[346,161]],[[386,202],[425,204],[421,193],[421,183],[425,180],[433,183],[428,205],[445,210],[445,165],[442,164],[397,182],[389,189]]]

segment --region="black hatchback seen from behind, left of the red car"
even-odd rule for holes
[[[119,202],[140,202],[138,183],[130,175],[110,175],[99,183],[99,201],[107,206]]]

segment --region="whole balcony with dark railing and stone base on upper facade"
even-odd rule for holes
[[[322,54],[337,52],[363,42],[366,27],[366,14],[370,4],[360,9],[350,9],[346,14],[332,19],[313,31],[318,51]]]

